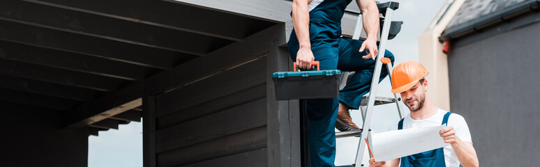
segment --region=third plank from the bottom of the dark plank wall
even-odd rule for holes
[[[264,106],[265,98],[158,130],[157,152],[174,150],[266,125],[267,114]]]

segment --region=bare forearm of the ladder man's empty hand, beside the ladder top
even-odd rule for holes
[[[366,31],[368,38],[377,40],[379,32],[379,9],[377,3],[373,0],[357,0],[359,8],[362,12],[363,29]]]

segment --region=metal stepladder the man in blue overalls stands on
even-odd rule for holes
[[[336,138],[360,136],[359,145],[357,148],[357,156],[356,156],[356,159],[354,160],[354,164],[350,166],[356,166],[356,164],[362,163],[363,154],[364,154],[364,151],[366,150],[366,138],[368,139],[368,142],[370,142],[370,135],[371,135],[370,130],[363,130],[363,129],[370,129],[371,116],[373,113],[373,107],[375,105],[396,103],[399,117],[400,119],[403,118],[401,116],[401,108],[399,105],[399,102],[401,101],[400,95],[398,95],[397,93],[394,93],[393,98],[376,97],[377,88],[379,87],[380,73],[381,73],[383,64],[387,65],[387,70],[389,73],[388,77],[391,81],[392,64],[389,58],[384,58],[384,52],[386,51],[387,40],[389,40],[389,33],[391,31],[391,26],[393,26],[394,24],[403,23],[403,22],[391,21],[393,11],[396,10],[398,6],[399,6],[399,3],[393,2],[393,1],[389,1],[386,3],[377,3],[377,7],[379,8],[380,13],[384,16],[384,24],[382,26],[382,31],[380,34],[381,38],[380,38],[380,45],[379,45],[379,54],[377,54],[377,58],[375,58],[375,61],[376,61],[375,70],[373,72],[373,79],[371,80],[370,91],[369,91],[368,96],[362,97],[362,101],[359,107],[361,110],[361,115],[362,115],[362,120],[363,120],[362,128],[359,130],[336,132]],[[397,26],[400,26],[400,25],[397,25]],[[357,19],[356,27],[354,28],[352,39],[359,39],[361,31],[362,31],[362,17],[361,15],[359,15]],[[394,31],[393,33],[395,34],[393,35],[396,35],[397,32]],[[345,87],[345,84],[347,84],[347,79],[352,77],[352,74],[354,74],[354,72],[343,72],[343,79],[341,81],[340,89]]]

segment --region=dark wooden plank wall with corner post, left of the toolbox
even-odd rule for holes
[[[285,44],[278,24],[150,77],[145,166],[300,166],[298,101],[271,80],[292,69]]]

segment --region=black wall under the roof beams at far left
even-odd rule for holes
[[[88,127],[60,129],[61,114],[0,102],[0,166],[88,166]]]

